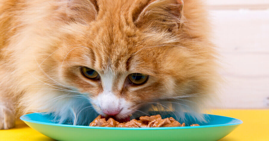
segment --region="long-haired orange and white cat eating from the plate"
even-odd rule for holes
[[[200,0],[2,0],[0,129],[31,112],[74,125],[149,109],[203,121],[216,56]]]

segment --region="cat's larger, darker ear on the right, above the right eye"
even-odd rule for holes
[[[148,0],[142,5],[133,13],[133,21],[138,28],[177,31],[180,27],[182,0]]]

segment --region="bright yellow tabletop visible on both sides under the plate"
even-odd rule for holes
[[[243,121],[231,134],[219,141],[269,141],[269,109],[214,110],[210,114],[234,117]],[[0,141],[55,141],[18,121],[16,128],[0,130]]]

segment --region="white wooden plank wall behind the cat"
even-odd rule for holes
[[[269,108],[269,0],[206,0],[226,83],[222,108]]]

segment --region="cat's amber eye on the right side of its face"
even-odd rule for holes
[[[131,84],[141,85],[146,83],[148,80],[148,75],[143,75],[141,73],[132,73],[128,75],[128,80]]]

